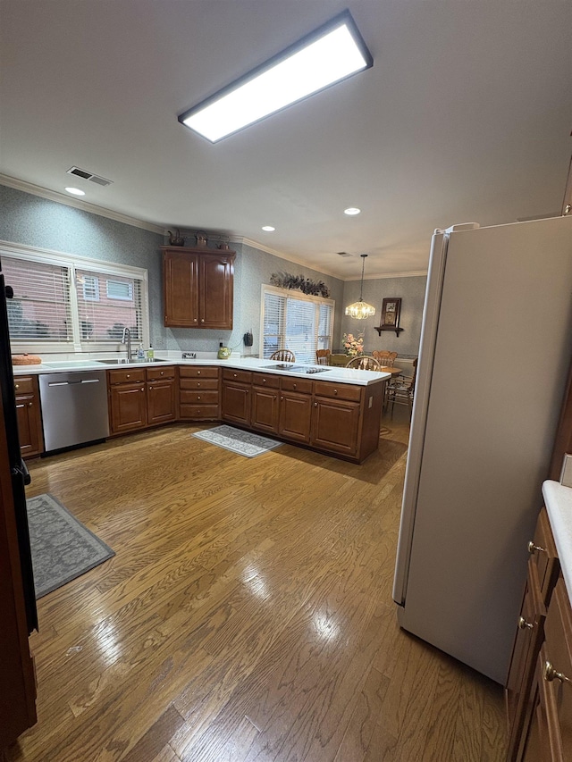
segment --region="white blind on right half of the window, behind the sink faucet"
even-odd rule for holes
[[[141,341],[141,289],[140,281],[133,278],[110,277],[104,272],[76,270],[78,287],[78,315],[82,343],[109,341],[122,338],[123,329],[129,328],[131,339]],[[85,298],[85,284],[97,282],[99,298]]]

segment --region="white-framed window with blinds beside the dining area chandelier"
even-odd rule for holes
[[[263,356],[290,349],[296,362],[315,363],[315,350],[332,348],[334,302],[263,286]]]

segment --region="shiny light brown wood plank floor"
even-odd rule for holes
[[[501,687],[400,631],[408,424],[351,465],[176,426],[30,464],[116,556],[38,601],[26,762],[502,760]]]

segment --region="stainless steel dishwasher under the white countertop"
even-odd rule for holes
[[[109,436],[105,371],[40,373],[46,451]]]

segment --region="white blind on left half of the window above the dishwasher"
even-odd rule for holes
[[[12,341],[72,342],[69,270],[59,264],[2,257]]]

